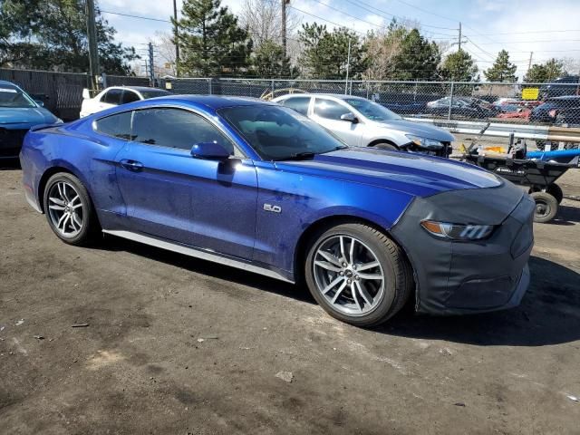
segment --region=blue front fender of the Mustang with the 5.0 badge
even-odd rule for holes
[[[304,232],[321,219],[363,219],[389,230],[414,198],[382,187],[256,167],[254,259],[292,273]]]

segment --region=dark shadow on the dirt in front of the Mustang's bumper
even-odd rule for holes
[[[378,331],[478,345],[544,346],[580,340],[580,274],[532,256],[531,285],[522,304],[506,311],[435,317],[403,313]]]

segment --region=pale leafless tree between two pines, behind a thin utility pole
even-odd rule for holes
[[[256,47],[266,41],[282,43],[282,5],[281,0],[244,0],[239,14],[240,24],[247,30]],[[295,29],[300,24],[299,17],[292,9],[286,9],[286,34],[292,40]]]

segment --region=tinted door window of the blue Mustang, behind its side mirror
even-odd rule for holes
[[[217,142],[235,154],[234,145],[226,135],[201,116],[181,109],[135,111],[131,135],[137,142],[179,150],[191,150],[200,142]]]

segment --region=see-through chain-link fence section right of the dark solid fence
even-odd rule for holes
[[[271,100],[286,93],[341,93],[378,102],[405,117],[580,127],[580,82],[373,82],[164,79],[175,93]]]

